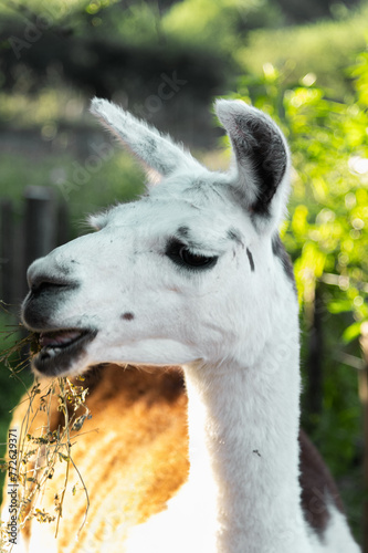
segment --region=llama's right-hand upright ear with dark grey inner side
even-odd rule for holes
[[[290,155],[277,125],[239,100],[218,100],[217,115],[235,157],[234,189],[257,227],[274,227],[286,208]]]

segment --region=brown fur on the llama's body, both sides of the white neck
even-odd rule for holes
[[[81,382],[77,382],[81,385]],[[23,532],[31,542],[59,553],[99,553],[101,544],[112,540],[111,553],[124,551],[129,528],[165,509],[188,476],[187,396],[178,367],[126,368],[106,365],[91,369],[84,386],[90,388],[86,404],[92,419],[86,420],[73,440],[73,460],[90,494],[87,524],[78,533],[86,508],[82,486],[71,469],[63,504],[57,550],[54,550],[55,523],[32,521]],[[27,399],[17,408],[12,427],[20,425],[28,408]],[[53,400],[51,430],[61,425],[57,400]],[[40,411],[33,430],[48,424]],[[328,522],[327,497],[341,509],[337,488],[319,453],[302,431],[301,484],[306,519],[323,532]],[[30,467],[31,468],[31,467]],[[65,463],[56,465],[55,474],[44,493],[42,508],[54,512],[54,494],[64,484]],[[6,495],[4,495],[6,499]]]

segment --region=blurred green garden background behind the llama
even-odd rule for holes
[[[0,0],[1,348],[20,336],[27,265],[85,232],[91,211],[143,191],[140,170],[88,115],[92,96],[211,168],[229,163],[213,98],[253,103],[293,154],[282,236],[301,303],[302,422],[366,553],[367,40],[367,0]],[[24,390],[9,376],[3,365],[3,444]]]

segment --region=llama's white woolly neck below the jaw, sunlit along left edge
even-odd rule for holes
[[[285,340],[253,366],[186,367],[189,482],[197,494],[212,490],[221,553],[308,551],[298,484],[298,337]]]

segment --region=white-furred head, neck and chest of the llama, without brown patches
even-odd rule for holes
[[[92,113],[147,169],[148,191],[92,217],[96,232],[30,267],[22,319],[42,346],[33,369],[182,367],[188,479],[124,543],[116,532],[116,551],[355,553],[333,488],[322,490],[322,526],[302,503],[298,305],[277,232],[288,148],[254,107],[219,100],[215,112],[232,146],[228,173],[208,170],[154,127],[93,101]],[[305,473],[316,466],[308,451]]]

